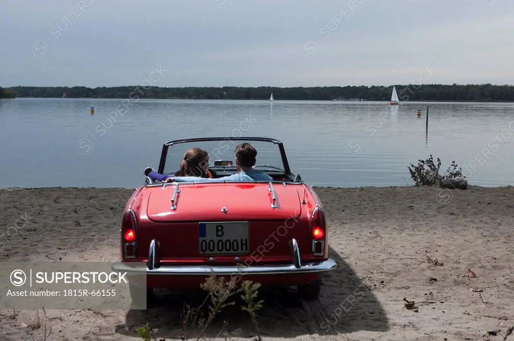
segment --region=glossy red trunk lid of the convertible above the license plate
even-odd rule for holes
[[[271,207],[273,192],[276,208]],[[146,213],[154,222],[283,220],[299,216],[301,204],[296,186],[178,184],[177,190],[172,184],[153,188]]]

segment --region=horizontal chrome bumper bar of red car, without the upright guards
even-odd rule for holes
[[[128,273],[146,273],[146,275],[170,275],[170,276],[209,276],[215,275],[279,275],[279,274],[299,274],[332,271],[337,267],[334,259],[328,258],[322,262],[306,263],[300,268],[292,264],[273,264],[256,265],[250,267],[237,266],[208,266],[208,265],[161,265],[159,268],[150,270],[145,266],[131,264],[133,262],[116,262],[112,265],[114,271]],[[137,262],[134,262],[137,263]]]

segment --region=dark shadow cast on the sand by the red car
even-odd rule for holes
[[[331,248],[329,256],[337,262],[334,271],[324,274],[318,300],[301,300],[294,288],[263,288],[263,308],[257,311],[263,337],[295,337],[305,334],[335,335],[359,330],[386,332],[389,319],[373,294],[373,284],[357,277],[355,271]],[[146,310],[129,310],[125,325],[117,332],[134,336],[135,329],[148,323],[156,329],[156,337],[180,338],[192,331],[183,331],[185,307],[198,307],[206,297],[205,291],[169,293],[158,291],[155,303]],[[207,327],[204,337],[253,337],[250,315],[241,310],[242,302],[225,307]],[[208,311],[205,313],[207,317]],[[225,326],[225,321],[227,325]],[[196,333],[198,334],[198,327]],[[186,338],[187,339],[187,338]]]

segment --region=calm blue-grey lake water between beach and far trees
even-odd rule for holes
[[[281,140],[291,171],[315,186],[412,184],[407,167],[430,154],[442,169],[455,160],[471,185],[514,185],[511,103],[402,103],[392,114],[386,102],[141,99],[113,120],[121,102],[0,100],[0,187],[136,187],[163,143],[241,135]]]

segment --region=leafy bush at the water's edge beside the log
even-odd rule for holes
[[[437,180],[440,179],[456,179],[465,178],[462,174],[462,168],[458,167],[455,161],[452,161],[443,175],[439,174],[441,161],[437,158],[437,164],[434,163],[432,154],[426,160],[418,160],[417,166],[411,164],[407,169],[411,173],[411,178],[414,181],[414,186],[432,186]],[[458,168],[458,169],[457,169]]]

